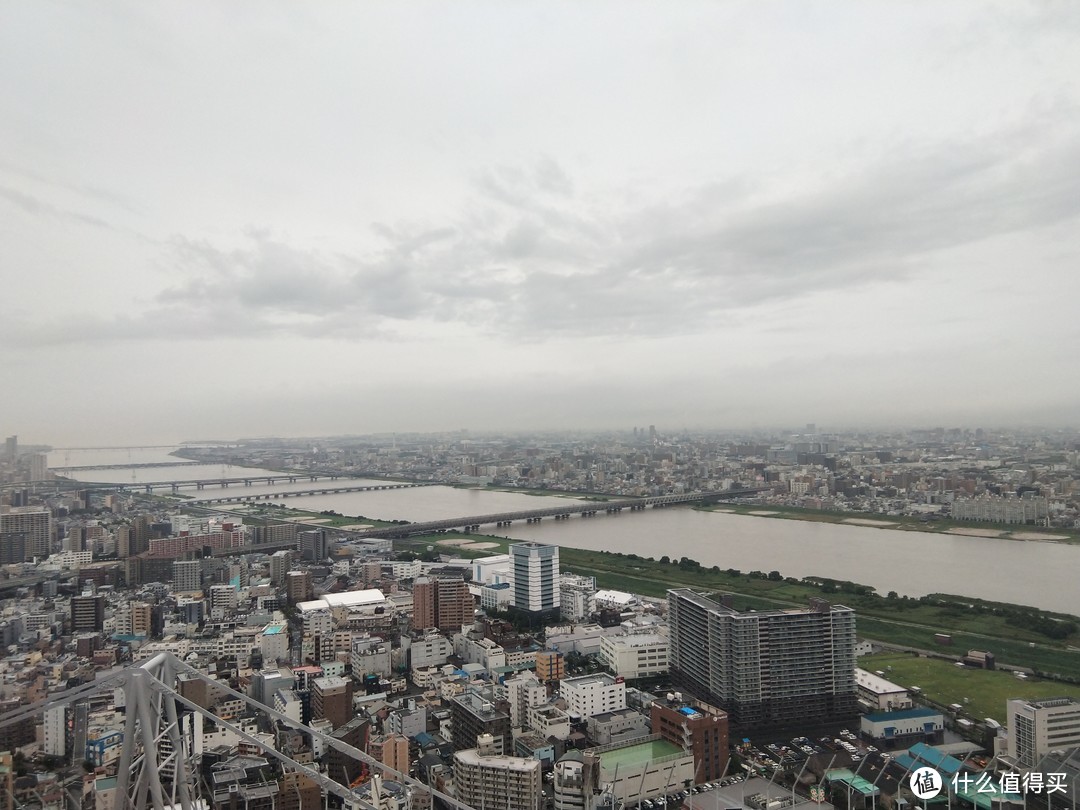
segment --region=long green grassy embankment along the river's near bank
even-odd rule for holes
[[[468,544],[440,543],[445,540],[473,540],[495,545],[470,550]],[[488,535],[447,532],[399,541],[397,548],[421,552],[435,544],[448,554],[474,557],[505,553],[511,542],[516,541]],[[1000,664],[1029,667],[1038,673],[1080,683],[1080,650],[1067,649],[1070,646],[1080,647],[1080,633],[1053,639],[1030,629],[1031,617],[1050,623],[1064,623],[1075,617],[945,594],[921,599],[888,598],[875,594],[873,589],[852,583],[822,580],[821,584],[816,584],[783,579],[779,572],[772,572],[773,578],[769,579],[769,575],[761,571],[725,571],[703,568],[692,561],[664,563],[633,554],[567,546],[559,549],[559,562],[564,570],[596,577],[597,584],[603,588],[644,596],[663,597],[670,588],[732,593],[735,594],[734,606],[739,609],[805,606],[812,597],[823,597],[855,610],[862,638],[929,650],[945,657],[959,657],[969,649],[989,650]],[[934,638],[937,633],[949,634],[951,645],[940,645]]]

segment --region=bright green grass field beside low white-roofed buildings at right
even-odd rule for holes
[[[943,705],[959,703],[964,706],[964,715],[978,721],[993,717],[1004,723],[1005,701],[1010,698],[1080,699],[1080,686],[1037,678],[1020,680],[1008,672],[960,669],[948,661],[907,653],[863,656],[859,666],[885,671],[894,684],[917,686],[924,697]]]

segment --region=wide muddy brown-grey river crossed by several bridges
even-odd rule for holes
[[[76,451],[69,464],[166,461],[167,449]],[[58,456],[58,457],[57,457]],[[55,453],[50,463],[67,458]],[[131,458],[129,458],[131,456]],[[173,457],[175,458],[175,457]],[[90,460],[93,459],[93,460]],[[246,468],[176,467],[95,470],[73,473],[84,481],[123,482],[235,477]],[[341,482],[343,485],[345,482]],[[327,485],[330,482],[327,482]],[[243,487],[243,492],[285,492],[310,483]],[[185,489],[195,495],[197,490]],[[202,497],[221,491],[206,486]],[[238,491],[231,487],[229,492]],[[379,519],[433,521],[443,517],[541,509],[567,499],[453,487],[296,497],[275,500],[297,509],[334,510]],[[779,570],[785,577],[820,576],[851,580],[879,593],[902,595],[954,593],[997,602],[1032,605],[1080,615],[1080,545],[901,531],[864,526],[752,517],[690,508],[599,514],[592,518],[517,523],[485,527],[516,540],[660,557],[691,557],[705,566],[743,571]]]

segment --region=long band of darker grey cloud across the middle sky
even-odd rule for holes
[[[215,339],[359,339],[411,321],[530,342],[692,334],[764,303],[903,281],[932,252],[1076,217],[1080,141],[1070,135],[909,148],[774,201],[738,178],[623,210],[575,200],[572,181],[544,158],[483,174],[457,221],[374,224],[383,247],[368,255],[323,253],[266,230],[228,249],[177,237],[167,246],[175,283],[157,309],[103,320],[93,333],[162,337],[161,324],[176,320],[228,323],[179,333]],[[73,337],[63,328],[8,330],[30,343]]]

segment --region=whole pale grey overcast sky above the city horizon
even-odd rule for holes
[[[1077,423],[1080,4],[0,8],[0,434]]]

